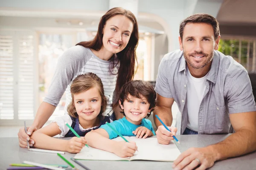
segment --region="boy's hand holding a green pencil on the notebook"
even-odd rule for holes
[[[115,146],[114,153],[117,156],[120,156],[122,158],[125,157],[131,157],[134,155],[134,153],[137,150],[137,145],[133,141],[125,142],[125,141],[120,141],[117,142],[117,145]]]

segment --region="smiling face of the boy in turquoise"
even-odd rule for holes
[[[125,112],[126,119],[134,125],[140,125],[141,120],[151,111],[149,109],[150,103],[148,103],[144,96],[141,96],[140,99],[128,94],[127,98],[127,100],[124,100],[123,105],[119,100],[119,104]]]

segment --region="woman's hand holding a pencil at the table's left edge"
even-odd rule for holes
[[[20,130],[18,132],[18,137],[19,137],[19,145],[20,147],[28,147],[27,145],[27,141],[29,141],[29,146],[32,147],[33,144],[35,144],[35,141],[30,139],[29,136],[31,136],[31,134],[35,131],[38,130],[35,126],[30,126],[27,127],[27,132],[25,132],[24,127],[20,127]]]

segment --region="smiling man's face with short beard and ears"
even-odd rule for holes
[[[211,64],[214,49],[218,49],[219,38],[214,39],[214,31],[210,24],[186,24],[183,39],[181,41],[179,37],[179,42],[187,64],[194,69],[201,69]]]

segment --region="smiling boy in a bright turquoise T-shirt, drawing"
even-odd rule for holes
[[[155,135],[150,120],[144,119],[155,107],[156,92],[149,82],[135,80],[126,83],[119,95],[119,105],[124,118],[116,120],[111,125],[123,136],[146,138]],[[110,140],[117,134],[108,126],[102,125],[84,136],[91,147],[115,153],[120,157],[133,156],[137,150],[134,142],[117,142]]]

